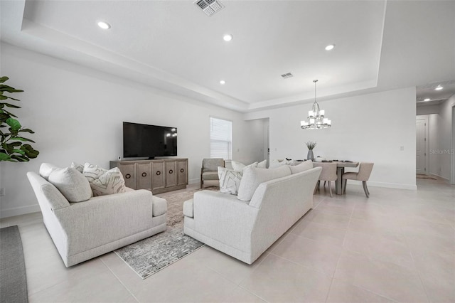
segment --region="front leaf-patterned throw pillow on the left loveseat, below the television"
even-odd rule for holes
[[[100,178],[93,180],[90,183],[92,187],[93,196],[104,196],[112,193],[124,193],[125,181],[123,175],[118,167],[109,169],[102,174]]]

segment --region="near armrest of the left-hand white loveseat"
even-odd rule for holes
[[[60,208],[55,217],[75,254],[152,227],[150,191],[138,190],[91,198]]]

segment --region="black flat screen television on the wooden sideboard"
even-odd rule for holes
[[[177,128],[123,122],[123,156],[177,156]]]

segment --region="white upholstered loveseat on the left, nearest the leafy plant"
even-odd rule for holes
[[[166,230],[167,202],[151,191],[127,188],[124,193],[70,203],[43,176],[33,171],[27,176],[66,267]]]

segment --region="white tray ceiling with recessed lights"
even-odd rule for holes
[[[312,102],[314,79],[319,100],[455,93],[455,1],[221,3],[2,0],[1,41],[240,112]]]

